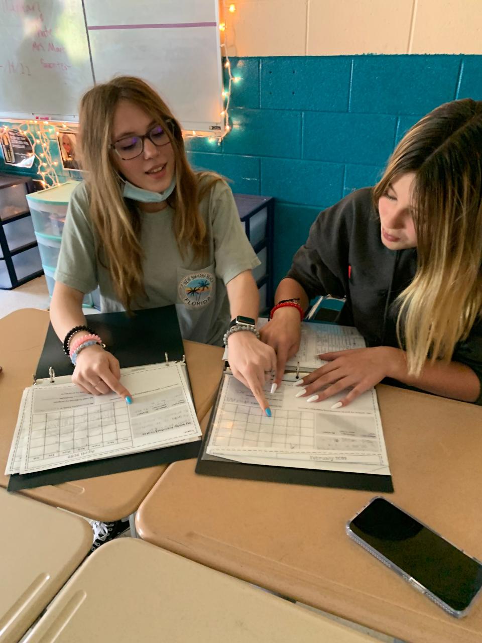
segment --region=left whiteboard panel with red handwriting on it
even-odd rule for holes
[[[92,82],[82,0],[0,0],[0,117],[77,120]]]

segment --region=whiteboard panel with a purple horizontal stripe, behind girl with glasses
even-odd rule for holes
[[[84,0],[96,82],[123,73],[156,87],[186,130],[222,127],[218,3]]]

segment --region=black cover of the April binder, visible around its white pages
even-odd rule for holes
[[[87,325],[102,337],[107,350],[116,356],[121,368],[183,359],[183,338],[174,305],[136,311],[132,317],[126,312],[106,312],[86,317]],[[53,368],[54,377],[73,373],[73,365],[62,350],[62,343],[51,325],[47,331],[35,379],[48,378],[49,368]],[[33,489],[195,458],[200,446],[201,440],[195,440],[152,451],[78,462],[46,471],[14,473],[10,476],[8,491]]]

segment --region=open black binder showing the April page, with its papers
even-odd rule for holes
[[[9,491],[196,457],[195,415],[175,306],[87,316],[119,359],[132,394],[87,395],[50,326],[34,385],[24,390],[6,473]],[[15,472],[15,473],[13,473]]]

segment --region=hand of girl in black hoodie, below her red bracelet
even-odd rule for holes
[[[278,308],[260,330],[262,341],[267,343],[276,352],[276,377],[274,384],[280,385],[289,358],[292,358],[299,349],[301,340],[301,320],[299,311],[292,306]]]

